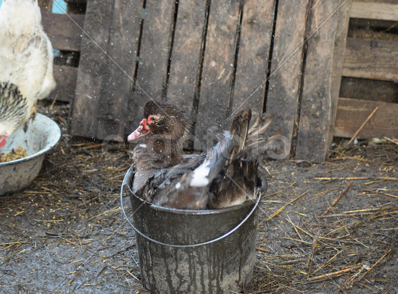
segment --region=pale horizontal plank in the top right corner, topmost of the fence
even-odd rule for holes
[[[398,21],[398,3],[353,1],[350,17]]]

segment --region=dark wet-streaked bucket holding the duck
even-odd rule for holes
[[[259,193],[256,203],[224,209],[182,210],[143,201],[123,180],[122,210],[136,231],[141,281],[151,293],[225,293],[250,282],[256,261]],[[261,180],[262,185],[266,183]],[[123,205],[129,191],[133,223]]]

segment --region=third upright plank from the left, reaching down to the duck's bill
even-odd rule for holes
[[[174,25],[175,2],[148,0],[145,3],[137,83],[130,102],[130,128],[142,119],[143,108],[150,99],[163,100]]]

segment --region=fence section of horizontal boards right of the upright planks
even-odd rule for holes
[[[335,136],[398,137],[398,2],[354,1],[344,53]],[[373,28],[373,29],[372,29]]]

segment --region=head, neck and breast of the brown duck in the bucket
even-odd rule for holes
[[[169,168],[187,162],[183,156],[183,143],[191,126],[191,118],[176,105],[158,101],[145,104],[144,118],[127,137],[132,141],[144,136],[132,152],[135,170],[133,193],[151,201],[153,193],[148,191],[149,180],[156,181]]]

